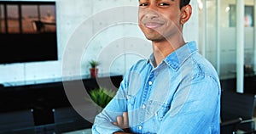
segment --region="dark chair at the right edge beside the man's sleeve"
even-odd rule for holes
[[[221,130],[230,127],[231,131],[254,131],[254,95],[224,91],[221,95]],[[227,122],[231,122],[228,124]],[[224,125],[224,124],[228,125]],[[223,132],[224,133],[224,132]]]

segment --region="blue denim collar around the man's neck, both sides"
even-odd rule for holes
[[[168,66],[173,70],[178,70],[183,62],[189,58],[190,55],[197,52],[197,47],[195,41],[188,42],[183,47],[179,47],[173,53],[169,54],[166,59],[163,60]],[[154,59],[154,54],[150,55],[148,62],[153,66],[156,64]],[[162,64],[162,63],[161,63]]]

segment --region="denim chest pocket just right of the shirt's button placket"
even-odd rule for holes
[[[147,114],[154,117],[156,120],[161,121],[169,109],[170,107],[167,103],[150,100],[148,102]]]

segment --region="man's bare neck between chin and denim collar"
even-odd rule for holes
[[[156,65],[158,66],[170,53],[174,52],[177,48],[182,47],[184,44],[185,42],[183,38],[172,43],[167,40],[161,42],[152,41]]]

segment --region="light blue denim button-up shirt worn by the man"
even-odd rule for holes
[[[154,56],[124,76],[119,91],[96,115],[93,133],[122,131],[112,122],[128,112],[132,133],[220,133],[220,84],[195,42],[178,48],[154,68]]]

